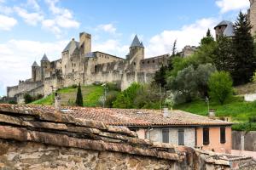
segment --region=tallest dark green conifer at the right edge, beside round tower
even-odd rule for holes
[[[252,25],[247,15],[240,12],[235,23],[235,36],[232,44],[235,63],[231,76],[235,85],[249,82],[256,69],[251,29]]]

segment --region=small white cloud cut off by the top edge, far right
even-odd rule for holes
[[[217,0],[216,4],[222,14],[232,10],[245,10],[250,7],[248,0]]]

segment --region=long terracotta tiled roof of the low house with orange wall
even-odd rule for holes
[[[0,111],[9,112],[38,112],[40,114],[53,113],[55,108],[43,105],[0,105]],[[101,121],[108,125],[127,127],[148,126],[230,126],[231,122],[211,119],[185,111],[174,110],[168,117],[161,111],[137,109],[108,109],[88,107],[63,107],[63,114],[70,114],[76,118]]]

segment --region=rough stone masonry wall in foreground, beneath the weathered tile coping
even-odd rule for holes
[[[175,161],[0,139],[2,169],[177,169]]]

